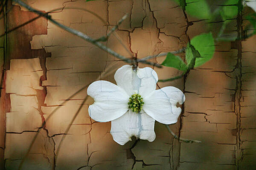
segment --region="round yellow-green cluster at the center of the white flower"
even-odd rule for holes
[[[131,111],[139,113],[144,105],[143,98],[139,94],[133,94],[129,98],[128,105]]]

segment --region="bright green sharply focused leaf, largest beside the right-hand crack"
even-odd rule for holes
[[[187,56],[187,55],[191,55],[191,53],[195,57],[195,67],[199,67],[200,65],[203,65],[205,62],[212,59],[212,56],[215,51],[215,46],[214,46],[214,39],[212,37],[211,32],[208,34],[201,34],[201,35],[195,36],[190,41],[190,44],[192,45],[194,50],[192,47],[189,47],[191,48],[191,52],[188,51],[190,54],[186,54],[186,61],[188,65],[189,65],[189,62],[192,61],[192,59],[191,59],[191,56]],[[197,51],[199,54],[196,54]]]

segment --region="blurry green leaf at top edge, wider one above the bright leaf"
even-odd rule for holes
[[[210,8],[206,0],[186,0],[186,12],[199,19],[211,18]]]

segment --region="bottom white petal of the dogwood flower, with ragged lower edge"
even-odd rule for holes
[[[123,116],[111,121],[110,133],[114,141],[121,145],[131,140],[131,136],[152,142],[156,137],[154,122],[155,120],[144,111],[135,113],[129,110]]]

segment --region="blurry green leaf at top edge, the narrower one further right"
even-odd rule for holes
[[[238,1],[239,0],[227,0],[226,3],[224,3],[226,6],[223,6],[221,10],[223,20],[236,18],[238,14],[238,6],[236,6],[236,4],[238,4]]]

